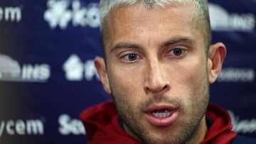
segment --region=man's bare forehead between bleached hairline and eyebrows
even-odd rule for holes
[[[138,40],[149,35],[188,35],[195,30],[196,6],[193,2],[172,3],[147,9],[142,4],[113,9],[107,17],[105,47],[118,40]]]

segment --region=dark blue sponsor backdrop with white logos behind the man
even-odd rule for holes
[[[234,130],[256,138],[256,1],[211,0],[213,43],[228,56],[210,101]],[[99,1],[0,1],[0,143],[86,143],[79,113],[110,99],[93,58],[102,55]]]

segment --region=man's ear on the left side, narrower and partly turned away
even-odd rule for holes
[[[102,82],[102,86],[105,89],[105,91],[110,94],[110,82],[107,77],[107,69],[105,66],[105,61],[102,57],[95,57],[95,68],[97,70],[97,73],[100,75],[100,81]]]

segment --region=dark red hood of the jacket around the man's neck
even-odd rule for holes
[[[232,123],[228,112],[215,104],[209,104],[206,113],[213,123],[201,144],[230,143],[235,138],[236,133],[231,131]],[[112,101],[105,101],[82,111],[80,119],[85,126],[87,143],[139,144],[139,141],[120,128],[118,118]]]

